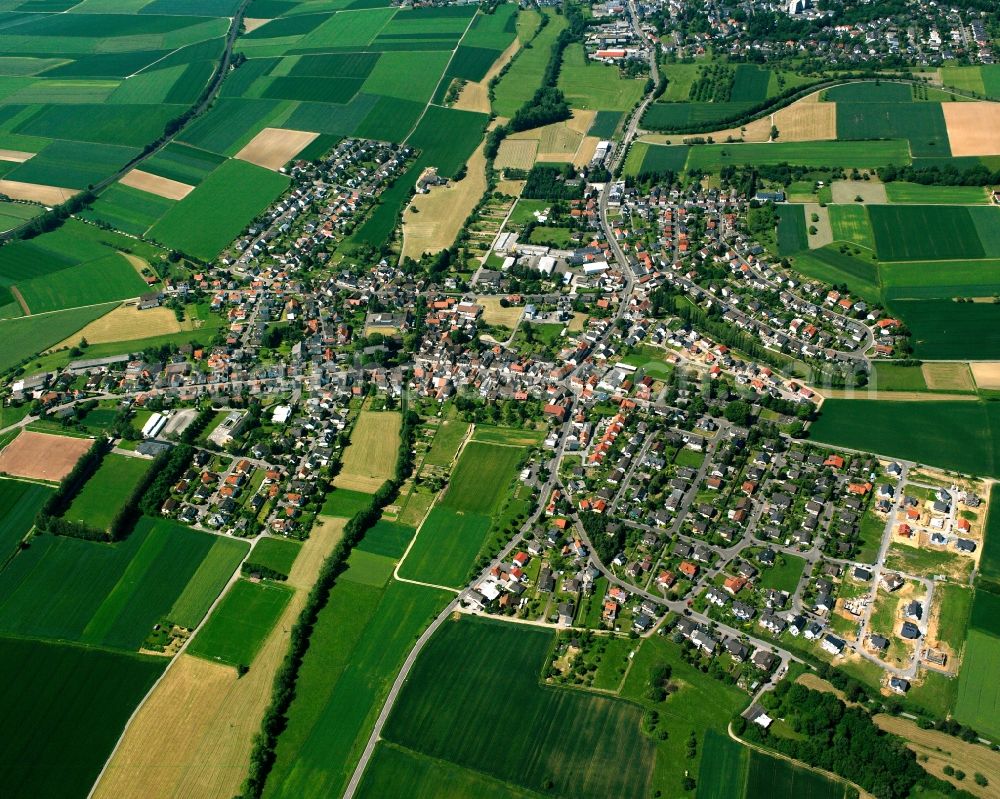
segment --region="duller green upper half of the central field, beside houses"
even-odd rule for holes
[[[495,513],[509,494],[524,454],[522,447],[470,441],[455,466],[441,507],[456,513]],[[484,475],[490,479],[484,481]]]

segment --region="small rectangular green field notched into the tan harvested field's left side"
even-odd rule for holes
[[[251,665],[292,593],[288,586],[269,580],[237,580],[192,639],[187,653],[231,666]]]

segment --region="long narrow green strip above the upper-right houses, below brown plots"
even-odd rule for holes
[[[724,166],[857,167],[872,169],[910,161],[906,142],[771,142],[763,144],[704,144],[691,148],[687,168],[718,172]]]

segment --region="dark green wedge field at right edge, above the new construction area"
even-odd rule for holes
[[[1000,429],[997,403],[828,399],[810,427],[810,437],[967,474],[1000,477],[992,434],[996,429]]]

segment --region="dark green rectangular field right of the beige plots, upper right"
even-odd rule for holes
[[[982,258],[969,210],[955,205],[872,205],[875,249],[884,261]]]

